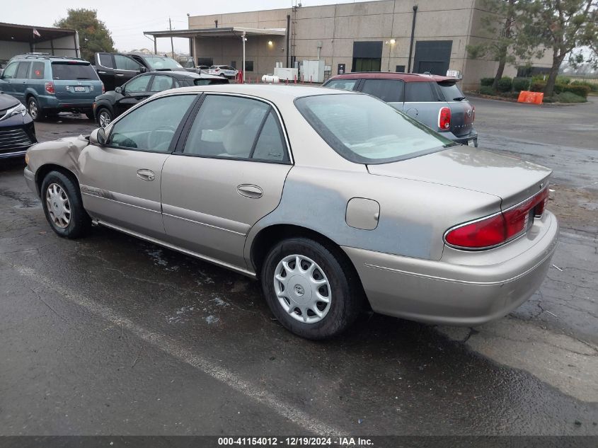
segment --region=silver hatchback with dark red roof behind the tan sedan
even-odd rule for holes
[[[443,137],[478,147],[478,132],[473,127],[476,108],[457,81],[448,76],[365,71],[334,76],[324,87],[369,93],[442,132]]]

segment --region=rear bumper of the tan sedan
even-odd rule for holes
[[[450,263],[444,255],[433,261],[343,250],[374,311],[427,323],[476,326],[509,314],[544,281],[558,241],[558,222],[545,212],[534,227],[535,234],[502,248],[459,251]]]

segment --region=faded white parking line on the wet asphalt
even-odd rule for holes
[[[103,304],[99,304],[97,301],[88,299],[80,294],[76,294],[75,292],[72,292],[62,285],[57,284],[57,282],[54,282],[54,280],[45,277],[45,275],[40,274],[40,272],[37,272],[32,268],[28,268],[27,266],[23,265],[7,263],[6,261],[0,261],[0,263],[9,266],[13,270],[16,270],[16,272],[23,277],[27,277],[29,280],[38,282],[48,289],[51,289],[53,292],[56,292],[71,303],[84,307],[91,313],[96,314],[96,316],[100,316],[100,318],[113,323],[115,326],[122,326],[122,328],[130,331],[138,338],[144,340],[146,343],[149,343],[166,354],[175,357],[177,360],[195,367],[205,374],[208,374],[210,377],[221,381],[222,383],[226,384],[226,386],[231,387],[235,391],[240,392],[248,398],[252,398],[258,403],[268,406],[268,408],[275,411],[275,413],[291,420],[293,423],[303,427],[305,430],[313,432],[315,435],[338,436],[345,434],[345,431],[323,423],[318,418],[311,417],[311,415],[308,415],[302,410],[295,408],[291,404],[282,401],[269,391],[260,389],[259,386],[252,384],[250,381],[246,381],[241,377],[238,377],[237,374],[234,374],[229,369],[226,369],[226,367],[222,367],[219,364],[215,364],[212,361],[195,355],[190,350],[180,346],[171,338],[161,335],[160,333],[154,333],[147,328],[137,325],[137,323],[130,321],[130,319],[126,317],[119,316],[108,306],[104,306]]]

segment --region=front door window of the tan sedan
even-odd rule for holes
[[[115,122],[108,146],[169,152],[171,141],[195,95],[157,98]]]

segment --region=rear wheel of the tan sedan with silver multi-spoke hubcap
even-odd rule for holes
[[[262,288],[284,328],[307,339],[331,338],[357,318],[362,287],[340,253],[307,238],[286,239],[266,255]]]

